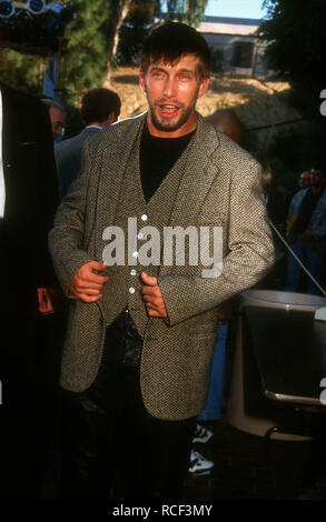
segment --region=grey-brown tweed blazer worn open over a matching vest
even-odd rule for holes
[[[145,121],[146,113],[124,120],[86,142],[83,172],[60,204],[49,239],[67,294],[82,264],[102,260],[102,232],[115,224],[117,205],[124,205],[119,187]],[[159,267],[168,318],[149,319],[140,363],[145,405],[159,419],[187,419],[202,410],[218,305],[255,284],[274,262],[257,162],[199,114],[169,222],[171,227],[189,224],[223,227],[223,273],[205,279],[202,267]],[[101,302],[72,298],[61,369],[63,388],[78,392],[90,387],[103,340]]]

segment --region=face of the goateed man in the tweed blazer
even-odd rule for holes
[[[198,58],[185,54],[174,64],[151,63],[139,82],[146,92],[151,134],[178,138],[191,132],[197,124],[197,99],[207,90],[209,79],[199,79]]]

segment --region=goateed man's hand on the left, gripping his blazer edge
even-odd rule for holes
[[[80,267],[70,281],[70,292],[86,303],[98,301],[102,297],[102,285],[109,281],[109,278],[98,275],[93,273],[93,270],[100,272],[106,268],[106,263],[98,263],[97,261],[89,261]]]

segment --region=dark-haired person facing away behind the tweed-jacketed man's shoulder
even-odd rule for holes
[[[106,88],[88,91],[81,101],[81,113],[85,129],[73,138],[55,145],[58,171],[59,194],[62,199],[70,184],[81,171],[81,152],[83,142],[95,132],[110,127],[120,114],[121,102],[118,94]]]

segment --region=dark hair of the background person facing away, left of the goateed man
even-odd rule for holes
[[[90,89],[81,100],[81,114],[86,126],[95,121],[99,123],[106,121],[110,112],[115,112],[118,119],[120,109],[121,101],[118,94],[103,87]]]

